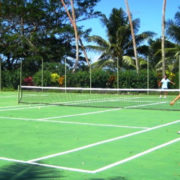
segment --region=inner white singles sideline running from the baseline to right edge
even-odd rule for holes
[[[78,148],[75,148],[75,149],[71,149],[71,150],[68,150],[68,151],[59,152],[59,153],[55,153],[55,154],[50,154],[50,155],[47,155],[47,156],[43,156],[43,157],[40,157],[40,158],[29,160],[28,162],[36,162],[36,161],[40,161],[40,160],[44,160],[44,159],[49,159],[49,158],[53,158],[53,157],[57,157],[57,156],[62,156],[62,155],[65,155],[65,154],[70,154],[70,153],[73,153],[73,152],[81,151],[81,150],[88,149],[88,148],[91,148],[91,147],[99,146],[101,144],[105,144],[105,143],[117,141],[117,140],[120,140],[120,139],[128,138],[128,137],[131,137],[131,136],[135,136],[135,135],[138,135],[138,134],[142,134],[142,133],[145,133],[145,132],[149,132],[149,131],[152,131],[152,130],[156,130],[156,129],[166,127],[166,126],[170,126],[172,124],[177,124],[177,123],[180,123],[180,120],[173,121],[173,122],[166,123],[166,124],[162,124],[162,125],[158,125],[158,126],[155,126],[155,127],[149,128],[149,129],[133,132],[133,133],[126,134],[126,135],[123,135],[123,136],[118,136],[118,137],[115,137],[115,138],[106,139],[106,140],[103,140],[103,141],[99,141],[99,142],[96,142],[96,143],[93,143],[93,144],[85,145],[85,146],[78,147]]]

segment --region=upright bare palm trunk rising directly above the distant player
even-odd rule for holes
[[[166,0],[163,1],[163,9],[162,9],[162,40],[161,40],[161,52],[162,52],[162,75],[165,75],[165,46],[164,46],[164,41],[165,41],[165,12],[166,12]]]

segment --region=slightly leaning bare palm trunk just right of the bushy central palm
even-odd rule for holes
[[[136,40],[135,40],[134,28],[133,28],[133,23],[132,23],[132,18],[131,18],[131,12],[130,12],[129,5],[128,5],[128,0],[125,0],[125,4],[126,4],[129,24],[130,24],[130,28],[131,28],[131,36],[132,36],[132,40],[133,40],[134,57],[135,57],[135,61],[136,61],[136,72],[137,72],[137,74],[139,74],[139,62],[138,62],[138,58],[137,58]]]

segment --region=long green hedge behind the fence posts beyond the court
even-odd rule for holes
[[[44,86],[58,86],[51,82],[50,75],[54,73],[53,70],[44,70]],[[64,76],[64,72],[59,74]],[[179,78],[178,73],[175,77],[176,86],[171,86],[171,88],[178,88]],[[2,87],[3,88],[14,88],[17,89],[19,85],[20,74],[19,70],[14,71],[2,71]],[[25,78],[25,73],[23,73],[22,80]],[[41,70],[32,76],[33,85],[41,86]],[[22,83],[24,84],[24,83]],[[64,85],[63,85],[64,86]],[[72,73],[69,71],[67,73],[67,87],[90,87],[90,74],[89,71],[76,71]],[[117,87],[117,77],[116,73],[112,73],[104,70],[92,70],[92,87],[101,88],[116,88]],[[157,75],[153,72],[150,73],[150,88],[158,88]],[[119,88],[147,88],[147,72],[140,71],[139,75],[135,71],[120,71],[119,73]]]

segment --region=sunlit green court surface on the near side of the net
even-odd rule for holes
[[[0,93],[0,167],[57,169],[61,179],[180,179],[179,111],[17,104]]]

